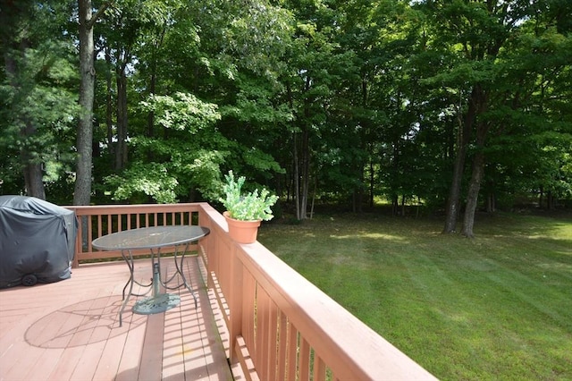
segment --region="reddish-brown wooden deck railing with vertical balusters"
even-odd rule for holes
[[[102,234],[155,224],[210,228],[198,247],[207,286],[223,311],[231,363],[247,379],[435,379],[262,244],[232,241],[206,203],[71,208],[80,220],[75,266],[120,255],[93,250]]]

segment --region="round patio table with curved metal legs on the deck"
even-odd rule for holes
[[[153,291],[151,296],[135,303],[133,312],[137,314],[148,315],[160,313],[179,305],[181,302],[180,296],[162,292],[161,286],[163,286],[165,290],[175,290],[184,285],[192,295],[195,301],[195,308],[197,308],[197,297],[191,290],[183,274],[183,260],[189,249],[189,243],[198,241],[209,233],[210,230],[208,228],[197,225],[153,226],[107,234],[92,242],[93,247],[97,250],[121,250],[122,258],[130,269],[130,278],[123,287],[123,302],[119,311],[119,326],[122,326],[123,309],[125,309],[131,295],[145,296],[149,291]],[[166,279],[163,279],[161,272],[161,249],[173,247],[175,248],[173,259],[176,271],[170,277],[166,277],[165,275]],[[184,247],[182,254],[179,250],[180,247]],[[148,284],[139,282],[133,276],[134,264],[132,250],[140,249],[148,249],[151,254],[153,277]],[[179,256],[179,254],[181,255]],[[175,286],[170,286],[169,284],[171,284],[177,275],[181,276],[182,282]],[[142,294],[134,293],[133,284],[139,284],[139,286],[144,289],[148,288],[148,290]],[[126,294],[128,287],[129,292]]]

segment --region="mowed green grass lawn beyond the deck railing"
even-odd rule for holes
[[[443,224],[320,215],[258,240],[436,377],[572,380],[572,217]]]

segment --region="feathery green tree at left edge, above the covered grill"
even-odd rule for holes
[[[26,194],[39,199],[46,199],[45,182],[65,175],[70,121],[77,112],[71,45],[61,33],[66,9],[65,2],[4,1],[0,13],[5,73],[0,172],[23,174]]]

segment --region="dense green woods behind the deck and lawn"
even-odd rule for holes
[[[0,194],[572,202],[568,0],[1,0]]]

